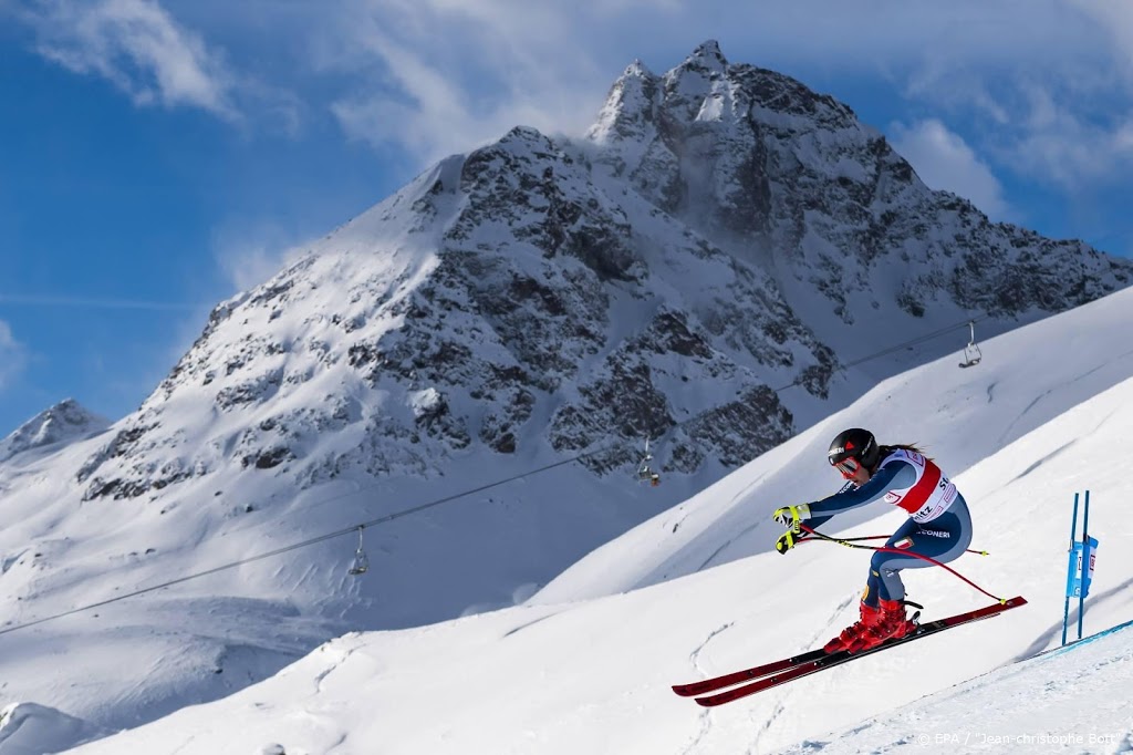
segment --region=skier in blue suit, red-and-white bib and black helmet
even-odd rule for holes
[[[803,521],[815,529],[834,515],[880,500],[909,512],[908,521],[886,542],[891,550],[874,553],[860,604],[861,618],[825,647],[827,653],[855,653],[915,628],[905,616],[905,587],[900,571],[931,562],[892,551],[952,561],[971,543],[972,519],[964,497],[915,446],[878,446],[871,432],[853,427],[830,442],[827,458],[849,482],[820,501],[775,510],[773,518],[787,527],[775,543],[780,553],[799,542]]]

